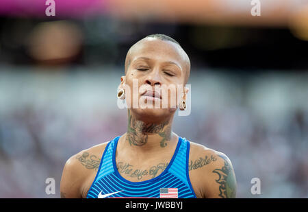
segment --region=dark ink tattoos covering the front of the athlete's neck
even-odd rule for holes
[[[128,126],[127,126],[127,141],[129,145],[144,145],[148,141],[147,133],[157,133],[162,137],[160,146],[162,148],[166,147],[166,141],[171,139],[171,127],[167,126],[166,130],[164,127],[168,125],[168,121],[164,123],[144,123],[143,121],[138,121],[133,119],[130,111],[128,110]],[[164,130],[164,131],[163,131]]]

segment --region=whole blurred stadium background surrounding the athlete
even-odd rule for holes
[[[224,152],[239,198],[308,198],[308,1],[0,2],[0,198],[59,198],[66,160],[123,134],[127,50],[167,34],[190,56],[181,137]],[[45,193],[55,178],[55,195]],[[261,195],[251,194],[260,178]]]

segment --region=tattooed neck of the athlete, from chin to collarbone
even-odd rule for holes
[[[146,123],[138,120],[128,110],[126,143],[135,150],[166,148],[172,139],[172,119],[160,123]]]

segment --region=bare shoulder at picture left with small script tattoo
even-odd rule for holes
[[[81,198],[84,196],[85,187],[87,187],[86,182],[97,173],[107,143],[109,141],[81,150],[68,158],[63,168],[60,183],[60,192],[63,198]]]

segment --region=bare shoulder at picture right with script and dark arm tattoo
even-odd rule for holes
[[[235,197],[235,173],[226,154],[190,142],[188,168],[196,195],[203,198]]]

